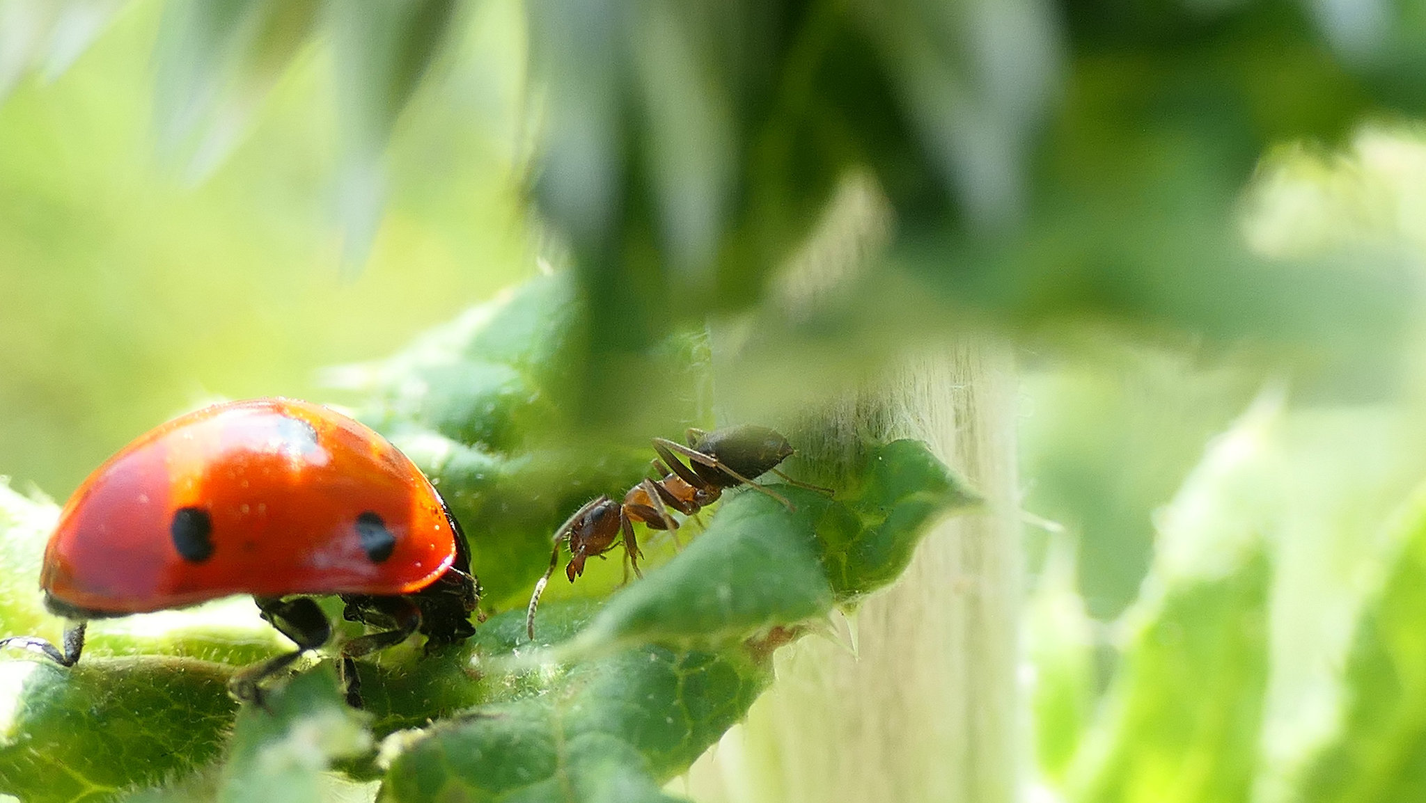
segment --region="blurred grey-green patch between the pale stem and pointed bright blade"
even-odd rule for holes
[[[1035,478],[1025,508],[1075,533],[1071,579],[1089,613],[1109,620],[1149,568],[1154,511],[1261,379],[1194,352],[1087,345],[1074,365],[1027,372],[1020,444],[1024,471]]]

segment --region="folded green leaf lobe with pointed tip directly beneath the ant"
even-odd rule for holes
[[[707,531],[666,566],[609,599],[578,655],[625,643],[719,643],[814,620],[894,579],[937,518],[977,498],[925,444],[870,448],[846,499],[771,485],[723,502]]]

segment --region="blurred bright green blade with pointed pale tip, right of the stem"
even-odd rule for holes
[[[1248,800],[1258,766],[1271,569],[1263,489],[1281,399],[1222,435],[1159,522],[1122,658],[1067,773],[1074,802]],[[1271,496],[1269,496],[1271,498]]]

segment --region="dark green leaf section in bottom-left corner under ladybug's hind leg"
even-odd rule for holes
[[[175,658],[0,662],[0,792],[100,800],[217,759],[237,707],[230,672]]]

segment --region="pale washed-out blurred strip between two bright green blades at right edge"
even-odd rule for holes
[[[1426,474],[1426,432],[1413,406],[1295,409],[1281,456],[1262,471],[1282,491],[1282,529],[1256,803],[1302,800],[1305,770],[1342,737],[1350,696],[1343,666],[1362,609],[1379,598],[1410,538],[1416,505],[1403,499]]]

